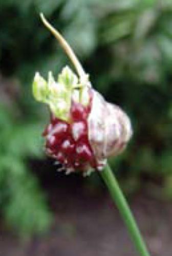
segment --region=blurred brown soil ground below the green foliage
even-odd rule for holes
[[[19,241],[0,226],[2,256],[135,256],[138,253],[106,190],[82,177],[55,176],[45,189],[54,211],[46,236]],[[50,186],[51,184],[51,186]],[[152,256],[172,255],[172,204],[133,196],[130,205]]]

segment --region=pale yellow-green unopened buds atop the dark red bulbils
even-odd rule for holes
[[[80,83],[68,66],[62,69],[57,81],[51,71],[48,81],[36,72],[33,80],[33,95],[36,100],[48,104],[56,117],[66,121],[70,119],[72,99],[83,105],[89,104],[88,87]]]

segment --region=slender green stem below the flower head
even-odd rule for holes
[[[123,193],[118,185],[118,182],[110,168],[109,165],[106,165],[102,172],[100,172],[101,177],[103,178],[105,184],[109,188],[110,194],[112,196],[113,201],[116,203],[119,212],[128,228],[128,231],[131,234],[131,238],[140,252],[141,256],[150,256],[147,251],[146,245],[142,239],[141,233],[138,229],[136,221],[133,217],[133,214],[128,206]]]

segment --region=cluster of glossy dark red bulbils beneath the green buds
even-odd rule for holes
[[[72,101],[71,120],[63,121],[51,115],[50,124],[42,134],[46,137],[46,152],[55,158],[69,172],[88,167],[96,168],[96,160],[89,143],[87,118],[88,106]]]

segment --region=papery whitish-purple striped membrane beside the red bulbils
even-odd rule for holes
[[[92,108],[88,117],[89,142],[101,169],[106,159],[118,155],[132,136],[128,116],[115,104],[106,102],[93,90]]]

